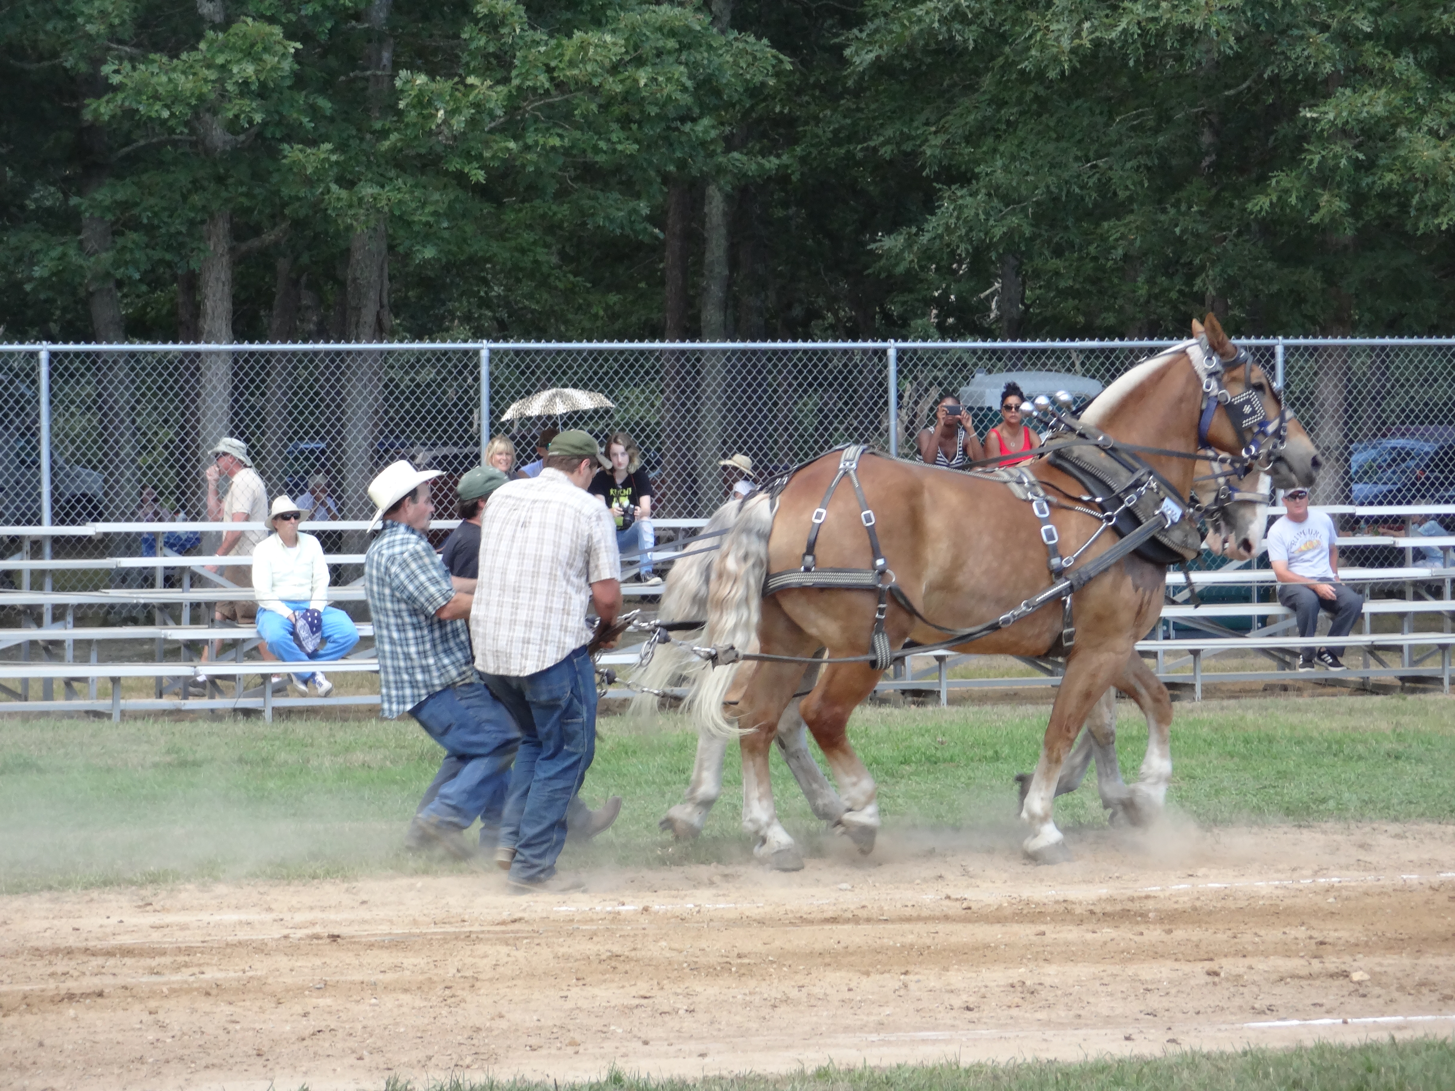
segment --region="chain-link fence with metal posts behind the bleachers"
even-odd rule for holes
[[[1455,340],[1257,340],[1324,452],[1323,503],[1455,500]],[[1152,342],[834,345],[0,346],[0,524],[205,519],[208,449],[247,442],[271,496],[367,518],[370,479],[409,458],[455,479],[492,436],[535,457],[544,428],[630,433],[666,518],[726,496],[733,454],[760,476],[835,444],[915,454],[944,394],[978,435],[1001,385],[1085,399]],[[42,390],[49,388],[49,404]],[[521,415],[544,390],[597,409]],[[512,407],[517,412],[512,412]],[[890,428],[893,420],[893,428]],[[448,503],[441,515],[447,515]]]

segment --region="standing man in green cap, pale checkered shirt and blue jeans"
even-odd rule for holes
[[[598,631],[621,610],[615,527],[586,492],[599,460],[589,435],[562,432],[540,476],[501,486],[480,525],[470,631],[476,666],[522,732],[496,855],[521,893],[582,887],[556,873],[556,858],[597,743],[586,610],[595,607]]]

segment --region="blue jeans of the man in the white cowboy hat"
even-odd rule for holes
[[[409,714],[445,748],[445,759],[460,765],[419,813],[464,829],[495,800],[498,822],[511,761],[521,745],[519,727],[505,706],[479,682],[460,682],[429,694]]]

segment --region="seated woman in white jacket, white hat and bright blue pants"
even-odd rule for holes
[[[288,663],[342,659],[359,642],[359,631],[348,614],[327,605],[329,566],[319,540],[298,532],[301,515],[298,505],[279,496],[269,512],[276,532],[253,548],[258,636],[269,652]],[[323,642],[313,655],[298,647],[294,636],[294,623],[306,610],[317,610],[323,615]],[[324,678],[323,671],[290,675],[292,691],[306,695],[310,676],[319,697],[333,692],[333,682]]]

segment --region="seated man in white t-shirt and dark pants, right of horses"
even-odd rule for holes
[[[1275,522],[1264,541],[1269,563],[1277,576],[1277,601],[1293,611],[1298,634],[1311,637],[1318,630],[1318,611],[1334,615],[1328,636],[1347,636],[1363,610],[1363,595],[1339,582],[1339,546],[1334,521],[1324,512],[1308,511],[1308,489],[1283,493],[1288,512]],[[1317,662],[1330,671],[1343,671],[1343,647],[1301,649],[1299,671],[1312,671]]]

